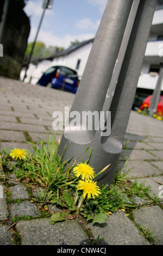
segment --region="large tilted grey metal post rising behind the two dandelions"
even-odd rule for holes
[[[109,168],[98,176],[98,184],[114,180],[122,143],[139,80],[143,57],[151,29],[156,0],[109,0],[99,26],[90,56],[70,111],[111,112],[111,133],[102,136],[101,130],[67,129],[61,138],[59,155],[71,155],[80,163],[87,147],[92,148],[89,164],[95,172]],[[94,112],[95,113],[95,112]],[[99,115],[100,116],[100,115]],[[86,157],[85,157],[86,159]]]

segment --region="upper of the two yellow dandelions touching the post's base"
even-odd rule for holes
[[[87,163],[77,164],[77,166],[73,168],[73,172],[77,177],[81,175],[82,180],[92,179],[95,176],[93,168]]]

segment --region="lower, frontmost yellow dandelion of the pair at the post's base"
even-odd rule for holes
[[[100,188],[96,185],[97,182],[92,180],[79,180],[79,184],[77,185],[78,190],[83,190],[83,197],[90,198],[91,195],[95,199],[95,196],[98,197],[98,194],[101,192],[99,191]]]

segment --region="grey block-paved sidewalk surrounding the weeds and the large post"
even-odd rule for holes
[[[31,149],[26,141],[39,142],[46,138],[52,129],[52,113],[62,111],[72,105],[74,95],[51,88],[24,84],[21,81],[0,77],[0,149]],[[61,138],[61,131],[57,139]],[[118,169],[124,165],[124,157],[129,158],[128,178],[151,186],[151,197],[160,192],[163,185],[163,121],[143,116],[131,111],[126,137],[129,141],[124,150]],[[10,187],[12,199],[23,199],[23,202],[11,203],[9,206],[4,197],[0,198],[0,245],[15,245],[13,234],[9,229],[10,218],[28,215],[40,216],[37,206],[30,202],[27,188],[11,175]],[[1,185],[1,173],[0,173]],[[163,190],[163,187],[162,187]],[[3,185],[5,192],[5,186]],[[162,192],[163,194],[163,192]],[[163,202],[163,198],[161,199]],[[143,204],[135,198],[137,205]],[[53,213],[54,209],[49,207]],[[133,211],[133,220],[125,212],[116,212],[103,224],[89,224],[91,235],[97,239],[104,238],[101,245],[150,245],[151,243],[139,233],[136,224],[144,228],[150,226],[155,237],[155,245],[163,245],[163,204],[141,206]],[[21,245],[91,245],[84,228],[76,221],[66,221],[49,225],[49,218],[20,220],[15,224]],[[63,247],[64,248],[64,247]]]

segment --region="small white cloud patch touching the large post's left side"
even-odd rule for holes
[[[95,23],[93,23],[91,21],[91,19],[85,18],[82,20],[78,20],[75,27],[80,28],[80,29],[85,29],[85,30],[93,29],[93,30],[97,31],[100,22],[101,22],[100,20],[97,20]]]

